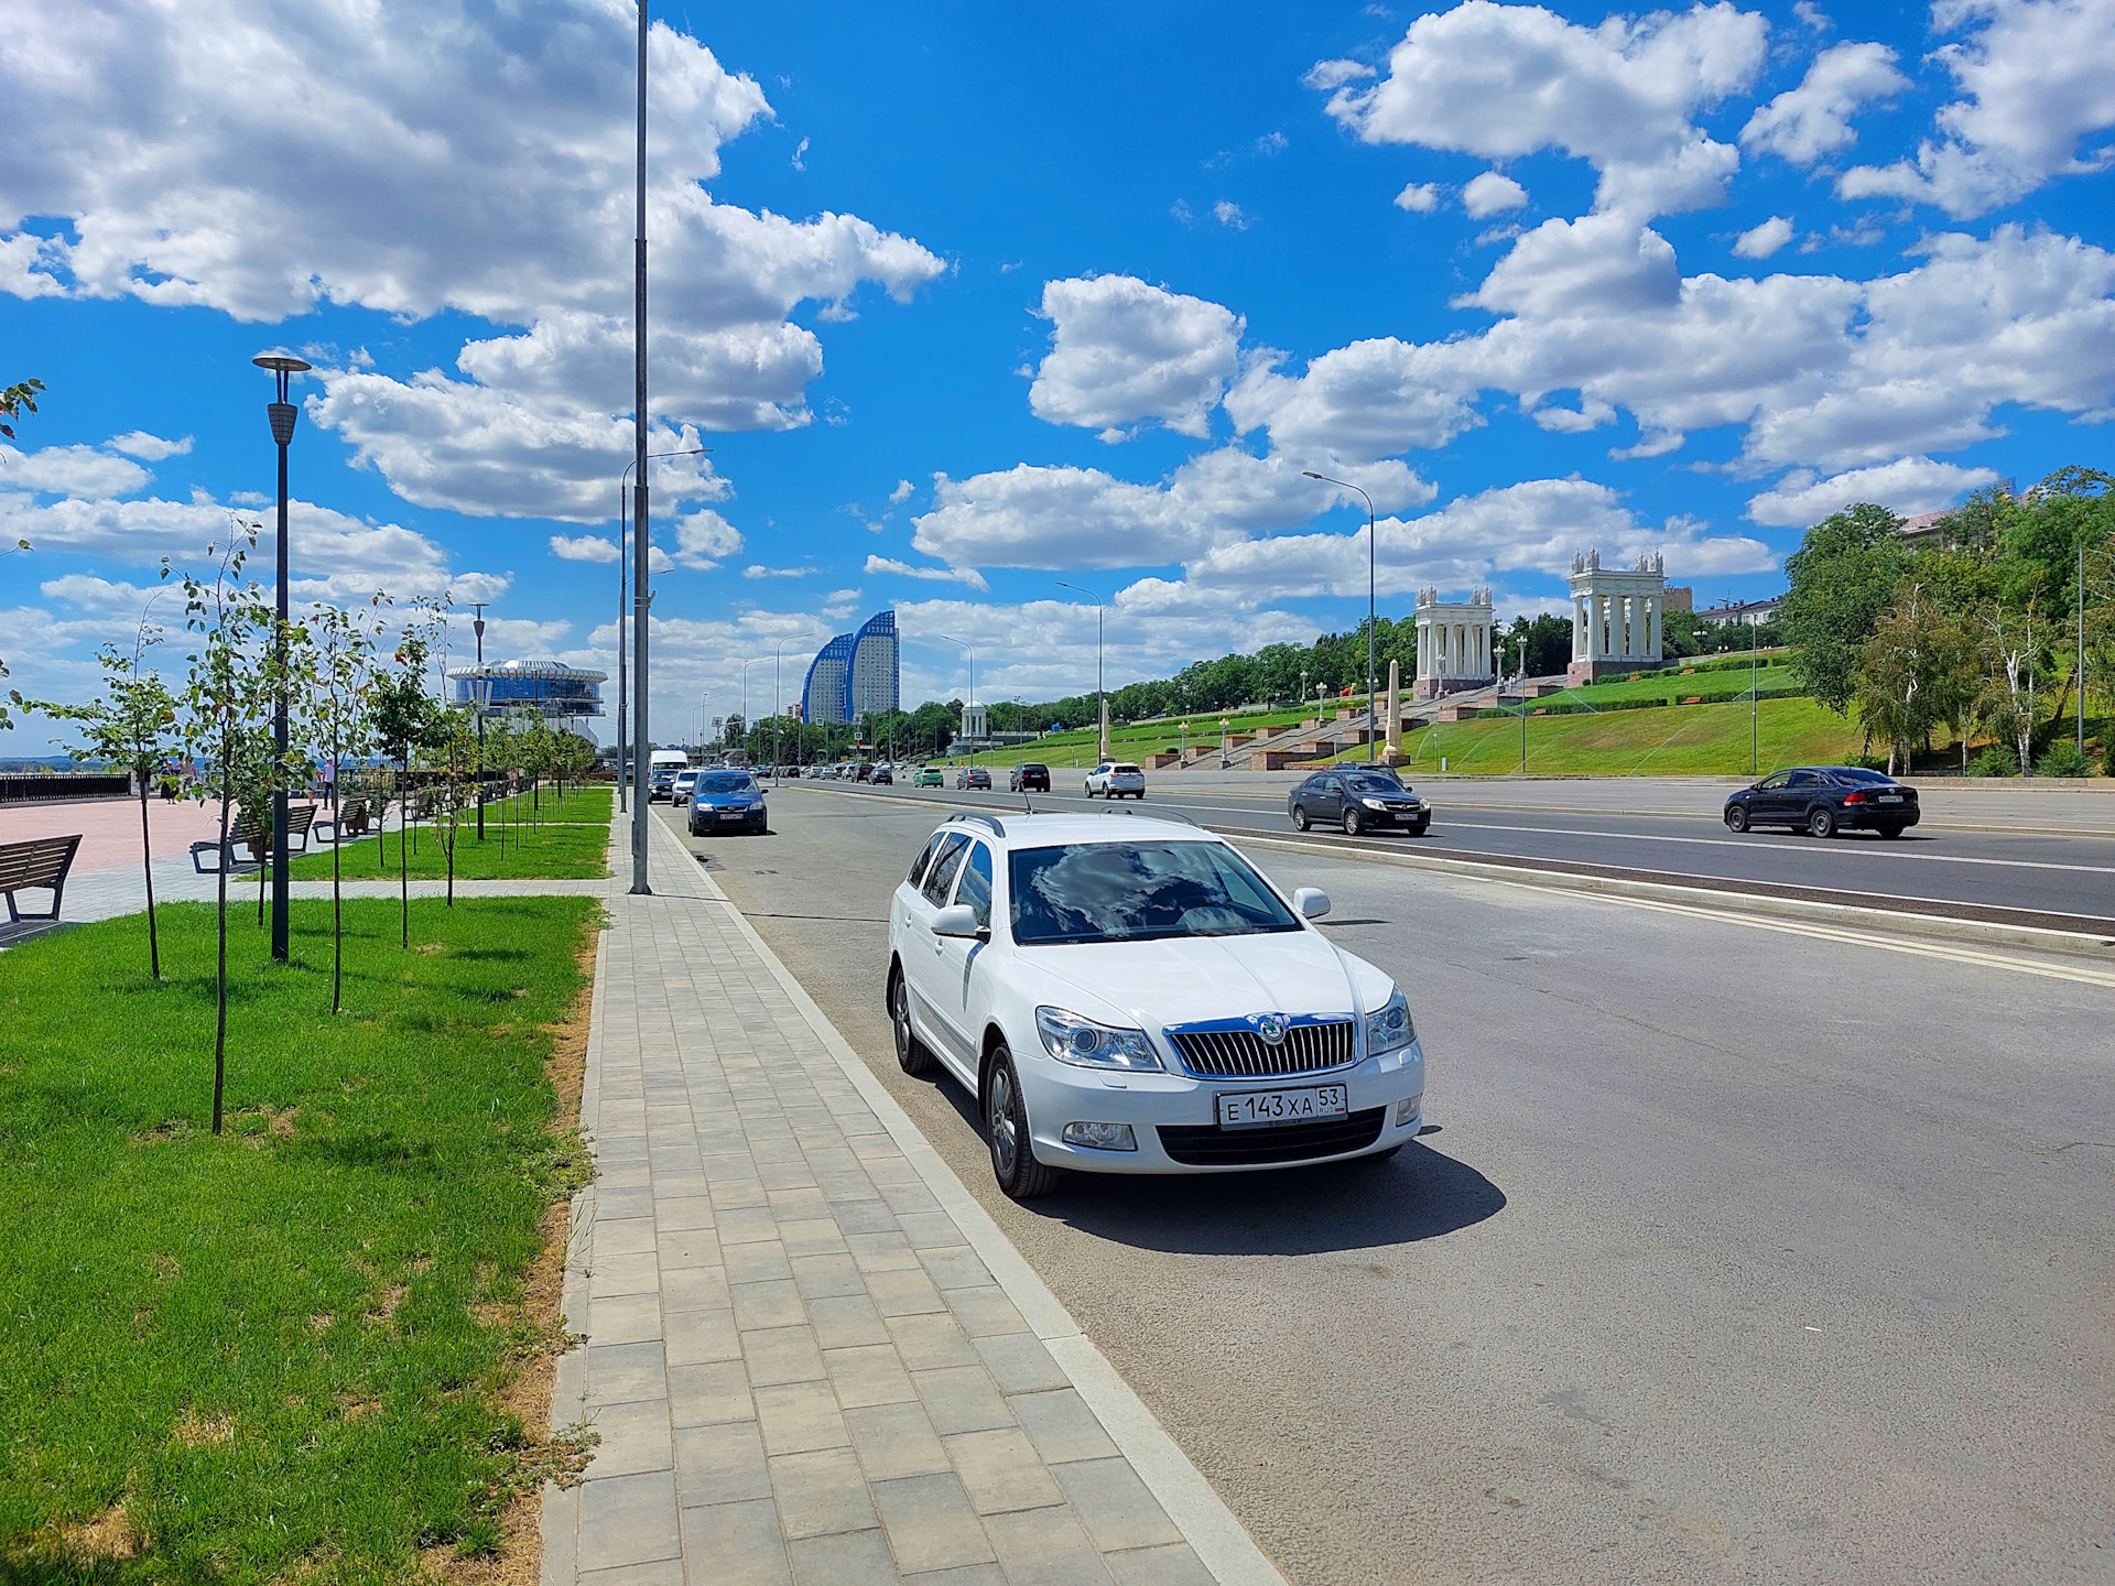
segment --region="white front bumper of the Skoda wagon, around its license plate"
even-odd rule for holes
[[[1400,1064],[1396,1062],[1398,1053],[1390,1053],[1387,1057],[1366,1057],[1354,1068],[1292,1078],[1193,1078],[1180,1072],[1102,1074],[1060,1064],[1043,1055],[1041,1049],[1024,1053],[1015,1047],[1013,1053],[1013,1066],[1022,1076],[1022,1100],[1028,1104],[1028,1133],[1034,1140],[1036,1161],[1081,1174],[1252,1174],[1267,1167],[1347,1161],[1413,1140],[1426,1119],[1426,1055],[1415,1040],[1402,1053]],[[1383,1068],[1383,1064],[1394,1066]],[[1318,1129],[1305,1138],[1292,1131],[1307,1131],[1313,1125],[1218,1127],[1214,1098],[1220,1093],[1305,1089],[1311,1085],[1343,1085],[1354,1121],[1379,1110],[1379,1129],[1373,1138],[1360,1142],[1362,1131],[1349,1127]],[[1419,1100],[1398,1121],[1406,1098]],[[1138,1150],[1068,1146],[1062,1138],[1068,1123],[1129,1123]],[[1184,1133],[1163,1140],[1163,1127]],[[1242,1157],[1269,1155],[1275,1146],[1273,1136],[1292,1155],[1280,1150],[1275,1161],[1214,1159],[1225,1150]],[[1170,1152],[1170,1144],[1180,1157]]]

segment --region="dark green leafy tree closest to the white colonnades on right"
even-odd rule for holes
[[[1893,512],[1861,501],[1817,522],[1785,558],[1791,590],[1781,620],[1798,651],[1794,675],[1842,715],[1851,713],[1865,641],[1908,567],[1899,527]]]

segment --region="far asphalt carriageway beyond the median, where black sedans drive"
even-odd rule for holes
[[[1022,808],[1017,793],[954,789],[869,789],[831,782],[831,791],[903,795],[937,808],[988,804]],[[797,787],[789,782],[787,787]],[[1148,782],[1144,799],[1117,808],[1170,808],[1199,825],[1288,835],[1286,789],[1216,787],[1187,789]],[[1622,808],[1478,808],[1485,789],[1428,785],[1434,804],[1432,829],[1423,837],[1379,837],[1457,856],[1502,854],[1555,859],[1580,865],[1639,869],[1669,878],[1717,878],[1755,886],[1800,886],[1846,892],[1859,899],[1925,899],[1999,909],[2083,916],[2115,926],[2115,837],[2018,831],[2003,825],[1918,825],[1889,842],[1876,833],[1844,833],[1829,842],[1777,831],[1726,831],[1719,810],[1724,787],[1694,787],[1679,799],[1690,810],[1669,812],[1658,797],[1654,812]],[[1578,795],[1576,795],[1578,797]],[[1072,774],[1036,793],[1041,808],[1106,808],[1083,797]],[[1377,837],[1366,837],[1373,842]]]

